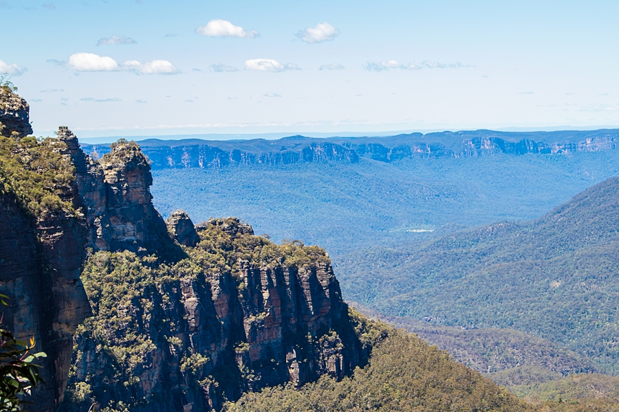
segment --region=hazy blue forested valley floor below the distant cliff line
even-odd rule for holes
[[[538,218],[617,174],[618,164],[619,150],[606,150],[160,168],[153,195],[164,216],[237,216],[276,242],[320,244],[339,264],[344,253],[425,241],[432,231]]]

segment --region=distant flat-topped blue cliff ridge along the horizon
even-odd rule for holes
[[[411,133],[389,137],[290,136],[277,140],[208,141],[201,139],[139,142],[153,169],[224,168],[228,165],[288,165],[344,161],[360,158],[391,163],[406,158],[477,157],[555,154],[612,150],[619,146],[619,129],[560,132],[496,132],[475,130]],[[107,145],[82,145],[86,152],[103,155]]]

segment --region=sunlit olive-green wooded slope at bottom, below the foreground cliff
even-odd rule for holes
[[[247,393],[229,412],[534,411],[479,373],[412,334],[391,330],[368,367],[336,382],[326,376],[301,390]]]

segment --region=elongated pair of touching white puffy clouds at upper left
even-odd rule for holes
[[[55,65],[63,65],[75,71],[133,71],[138,74],[175,74],[180,70],[168,60],[153,60],[152,62],[140,63],[137,60],[127,60],[118,64],[116,60],[108,56],[99,56],[94,53],[76,53],[69,56],[68,62],[47,60]]]

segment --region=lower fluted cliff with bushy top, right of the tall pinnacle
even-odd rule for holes
[[[233,218],[197,235],[175,264],[127,251],[89,258],[95,316],[76,334],[67,409],[217,410],[367,361],[322,249],[276,246]]]

